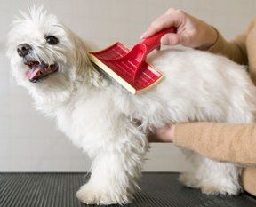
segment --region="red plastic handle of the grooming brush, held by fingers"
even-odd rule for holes
[[[174,27],[164,28],[160,32],[156,33],[154,36],[149,36],[140,44],[144,44],[146,46],[147,48],[146,54],[148,54],[149,52],[155,50],[160,46],[160,40],[162,36],[168,33],[176,33],[176,32],[177,32],[177,28],[174,28]]]

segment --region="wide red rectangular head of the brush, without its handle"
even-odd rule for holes
[[[146,61],[138,64],[136,57],[123,60],[122,57],[129,52],[124,44],[117,42],[100,52],[89,52],[88,55],[92,62],[132,94],[145,92],[156,85],[163,78],[163,74],[148,65]]]

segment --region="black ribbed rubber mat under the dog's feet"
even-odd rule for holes
[[[144,173],[141,191],[127,206],[256,207],[256,199],[250,195],[203,195],[196,189],[183,187],[177,176],[175,173]],[[0,173],[0,206],[86,206],[76,200],[76,190],[87,179],[84,173]]]

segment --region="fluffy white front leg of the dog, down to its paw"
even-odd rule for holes
[[[76,193],[81,202],[131,202],[134,190],[138,187],[137,180],[140,178],[148,142],[145,135],[135,126],[123,125],[123,128],[117,129],[117,137],[97,150],[99,153],[95,155],[92,163],[91,178]]]

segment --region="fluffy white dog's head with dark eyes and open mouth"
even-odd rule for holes
[[[28,89],[65,88],[92,67],[84,42],[43,7],[15,20],[8,35],[12,75]],[[68,86],[69,85],[69,86]]]

